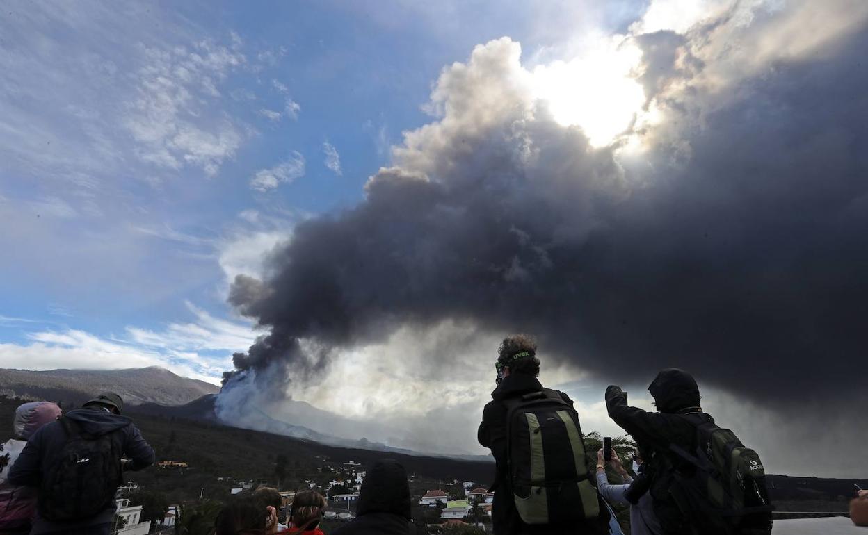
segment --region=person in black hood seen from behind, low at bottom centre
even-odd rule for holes
[[[365,474],[358,493],[356,518],[339,527],[335,535],[413,535],[410,484],[398,461],[378,460]]]

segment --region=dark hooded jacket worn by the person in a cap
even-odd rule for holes
[[[154,449],[141,438],[141,433],[128,416],[109,413],[102,408],[80,408],[69,411],[64,417],[75,421],[82,427],[84,433],[111,434],[116,451],[122,452],[122,455],[128,459],[124,465],[125,470],[140,470],[154,464]],[[66,441],[67,434],[60,421],[52,421],[40,427],[27,441],[27,446],[10,469],[10,483],[18,486],[41,486],[43,471],[56,462]],[[41,517],[37,504],[36,520],[30,534],[64,532],[64,530],[89,525],[107,524],[111,522],[114,515],[115,502],[111,502],[103,512],[90,519],[76,522],[51,522]]]

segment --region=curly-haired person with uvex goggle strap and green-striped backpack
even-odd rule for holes
[[[536,342],[507,336],[495,369],[497,388],[477,432],[495,459],[495,532],[608,533],[573,401],[536,379]]]

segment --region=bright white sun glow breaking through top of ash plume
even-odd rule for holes
[[[641,49],[623,37],[604,41],[569,62],[534,69],[534,94],[559,124],[581,127],[593,147],[608,146],[630,127],[645,103],[635,78],[641,55]]]

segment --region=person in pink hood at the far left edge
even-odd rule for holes
[[[50,401],[24,403],[16,408],[12,431],[15,438],[0,444],[0,533],[29,533],[36,515],[36,490],[14,486],[7,481],[27,440],[39,427],[60,418],[61,410]]]

